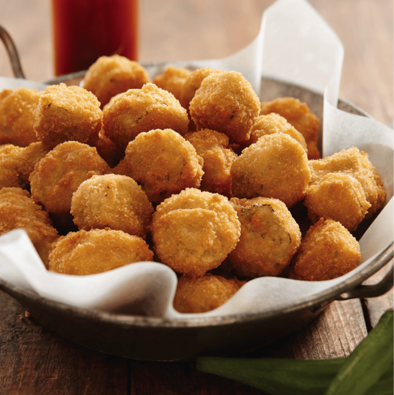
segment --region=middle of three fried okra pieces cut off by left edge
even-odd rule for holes
[[[50,148],[40,141],[27,147],[12,144],[0,145],[0,189],[15,187],[26,189],[35,164],[43,158]]]

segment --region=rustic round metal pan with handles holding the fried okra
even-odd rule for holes
[[[17,50],[1,26],[0,38],[8,50],[15,77],[24,78]],[[151,63],[143,66],[154,76],[161,73],[166,64]],[[62,75],[46,83],[78,85],[85,72]],[[261,100],[272,100],[281,96],[293,96],[306,102],[320,121],[322,120],[322,93],[275,79],[262,79]],[[369,117],[362,109],[345,100],[339,100],[338,108]],[[321,135],[320,129],[320,150]],[[394,243],[391,243],[362,271],[336,286],[295,303],[290,308],[221,317],[165,319],[117,314],[74,308],[40,297],[32,291],[21,290],[3,280],[0,280],[0,289],[21,303],[42,325],[82,346],[134,359],[178,361],[194,359],[198,355],[246,352],[301,329],[335,299],[379,296],[393,286],[394,266],[379,284],[360,284],[393,257]]]

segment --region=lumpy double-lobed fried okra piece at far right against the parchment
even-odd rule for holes
[[[385,201],[379,173],[368,155],[356,147],[310,160],[309,167],[312,178],[304,204],[313,222],[330,218],[353,231]]]

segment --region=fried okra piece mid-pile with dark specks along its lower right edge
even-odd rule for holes
[[[194,147],[171,129],[140,133],[129,143],[114,173],[141,185],[151,202],[163,201],[187,187],[198,188],[204,172]]]

